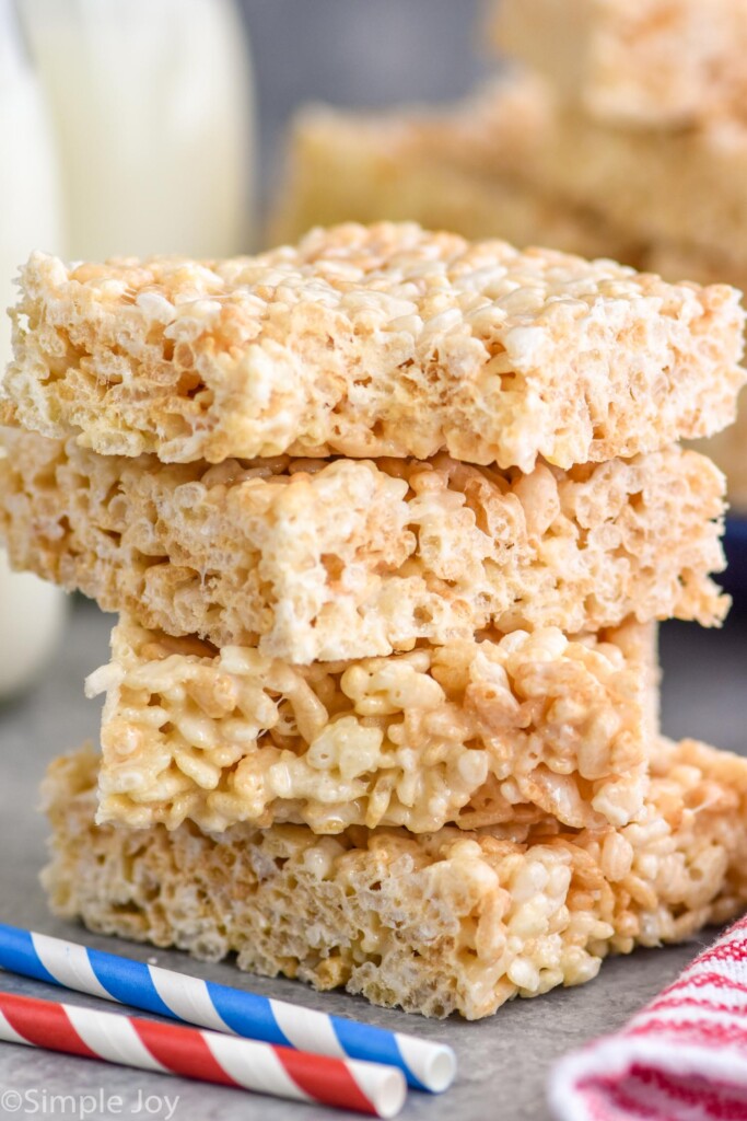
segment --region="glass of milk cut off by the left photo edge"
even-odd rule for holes
[[[63,243],[54,149],[11,0],[0,0],[0,370],[10,355],[13,277],[32,249]],[[34,680],[52,654],[65,596],[12,573],[0,549],[0,700]]]

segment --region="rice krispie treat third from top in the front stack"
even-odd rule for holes
[[[655,661],[653,624],[293,667],[124,617],[87,682],[106,693],[99,821],[625,825],[647,788]]]

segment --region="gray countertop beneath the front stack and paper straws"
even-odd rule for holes
[[[37,876],[45,860],[46,824],[36,812],[37,789],[47,761],[82,740],[95,738],[99,706],[86,702],[82,683],[86,673],[106,659],[111,617],[90,604],[77,603],[59,655],[43,684],[21,700],[0,710],[0,750],[3,769],[0,784],[0,917],[7,921],[58,934],[88,945],[108,946],[140,960],[151,960],[146,946],[119,943],[86,934],[73,924],[60,923],[47,912]],[[744,691],[747,619],[734,615],[723,631],[701,631],[678,623],[663,629],[664,726],[672,735],[695,735],[725,748],[739,750],[747,744],[747,695]],[[360,998],[345,994],[320,995],[284,980],[267,981],[237,973],[230,964],[204,965],[179,953],[158,952],[159,964],[189,970],[226,983],[334,1011],[365,1018],[375,1023],[448,1040],[459,1059],[455,1087],[439,1099],[411,1094],[402,1113],[405,1119],[459,1118],[478,1121],[486,1117],[502,1121],[548,1117],[544,1080],[552,1060],[600,1032],[624,1023],[660,988],[672,980],[694,954],[697,944],[643,951],[629,958],[614,958],[603,966],[599,978],[579,989],[559,990],[536,1000],[514,1001],[489,1020],[464,1023],[433,1022],[399,1012],[372,1008]],[[15,992],[54,997],[58,990],[13,978],[0,979],[0,988]],[[73,994],[74,1002],[96,1004]],[[104,1006],[105,1007],[105,1006]],[[15,1092],[21,1100],[6,1096]],[[44,1093],[46,1092],[46,1100]],[[233,1121],[260,1118],[279,1121],[291,1115],[316,1121],[343,1117],[315,1106],[254,1097],[239,1091],[189,1083],[159,1075],[141,1074],[105,1066],[87,1059],[0,1046],[0,1117],[73,1117],[72,1103],[53,1108],[53,1094],[78,1095],[81,1109],[90,1117],[140,1117],[166,1119],[170,1105],[178,1104],[175,1121]],[[99,1095],[93,1099],[80,1095]],[[156,1095],[152,1112],[141,1106],[141,1095]],[[24,1096],[26,1095],[26,1096]],[[119,1095],[122,1104],[111,1095]],[[20,1101],[20,1108],[13,1109]],[[108,1106],[108,1101],[110,1105]],[[486,1103],[489,1103],[489,1110]],[[85,1114],[84,1114],[85,1115]]]

